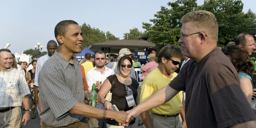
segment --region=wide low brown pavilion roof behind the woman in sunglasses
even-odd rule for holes
[[[95,43],[90,45],[88,48],[94,52],[102,50],[110,53],[118,53],[122,48],[128,48],[131,52],[134,52],[153,48],[155,46],[155,44],[144,40],[116,40]]]

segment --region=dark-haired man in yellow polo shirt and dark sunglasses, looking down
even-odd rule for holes
[[[158,67],[150,72],[142,82],[140,102],[145,101],[157,90],[167,86],[178,74],[174,71],[179,68],[183,55],[179,47],[166,45],[158,54]],[[185,111],[182,107],[182,92],[168,102],[141,113],[146,128],[182,128],[186,127]],[[182,125],[179,114],[182,118]]]

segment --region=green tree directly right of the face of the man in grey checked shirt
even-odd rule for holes
[[[92,28],[90,25],[84,23],[81,25],[81,31],[83,33],[84,43],[82,43],[82,48],[88,47],[91,44],[105,42],[106,36],[105,32],[99,30],[98,28]]]

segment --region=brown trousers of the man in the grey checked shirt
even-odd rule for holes
[[[55,128],[55,127],[48,126],[46,123],[43,122],[41,128]],[[68,126],[58,127],[58,128],[89,128],[89,125],[87,120],[83,118],[79,122],[74,122],[72,124],[69,124]]]

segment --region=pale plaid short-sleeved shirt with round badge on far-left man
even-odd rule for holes
[[[24,96],[30,94],[25,76],[12,67],[0,69],[0,108],[21,106]]]

